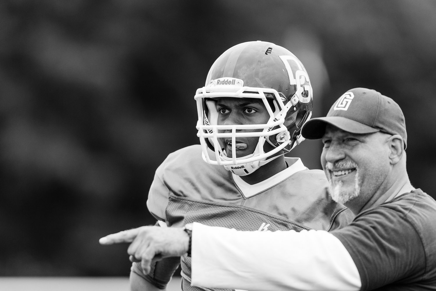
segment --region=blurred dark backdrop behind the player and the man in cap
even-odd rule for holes
[[[0,1],[0,275],[124,276],[109,233],[154,223],[157,166],[199,144],[195,90],[233,45],[307,68],[314,117],[347,89],[392,97],[412,184],[436,196],[436,1]],[[320,168],[320,142],[291,156]]]

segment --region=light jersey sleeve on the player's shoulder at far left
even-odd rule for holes
[[[167,209],[170,190],[164,184],[164,166],[165,161],[160,164],[154,174],[153,183],[151,183],[148,192],[147,208],[156,219],[166,221],[165,210]]]

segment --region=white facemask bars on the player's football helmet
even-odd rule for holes
[[[204,87],[198,90],[198,94],[195,97],[195,99],[197,99],[199,120],[202,120],[202,122],[198,122],[197,128],[198,137],[200,137],[201,146],[203,147],[203,159],[209,164],[223,165],[236,175],[249,175],[259,168],[259,166],[266,164],[277,156],[267,160],[268,157],[278,153],[289,145],[290,135],[283,125],[285,122],[284,116],[286,116],[286,112],[289,110],[289,105],[286,106],[283,104],[282,99],[284,98],[280,98],[279,93],[274,89],[241,86],[236,86],[235,88],[226,86],[225,89],[226,90],[220,90],[217,87]],[[269,113],[268,122],[264,124],[218,125],[218,111],[215,104],[216,99],[222,97],[261,99]],[[268,99],[272,100],[272,102],[268,102]],[[271,104],[274,108],[272,108]],[[230,132],[223,132],[224,130]],[[239,132],[238,130],[256,131]],[[276,141],[276,143],[279,144],[279,146],[276,147],[276,145],[272,144],[275,148],[266,153],[264,151],[265,142],[268,140],[271,144],[269,139],[274,138],[274,140],[276,140],[277,136],[279,136],[279,141]],[[257,146],[252,154],[237,157],[235,141],[238,137],[259,137]],[[231,154],[226,153],[222,138],[232,139]],[[215,159],[209,156],[207,147],[215,152]]]

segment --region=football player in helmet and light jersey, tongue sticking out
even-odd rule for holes
[[[313,103],[306,69],[290,51],[264,41],[235,45],[215,61],[194,98],[201,144],[168,155],[148,195],[160,226],[300,231],[351,222],[352,212],[328,195],[324,171],[284,157],[303,141]],[[164,289],[180,263],[182,290],[208,290],[191,286],[186,255],[154,263],[148,275],[141,257],[131,260],[132,290]]]

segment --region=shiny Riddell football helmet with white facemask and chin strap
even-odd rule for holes
[[[215,103],[221,97],[262,99],[269,113],[268,122],[218,125]],[[271,157],[277,152],[285,154],[300,144],[304,140],[301,127],[312,115],[312,86],[303,64],[286,48],[265,41],[244,42],[225,51],[212,65],[204,87],[197,89],[194,99],[204,161],[223,165],[240,176],[272,161],[278,157]],[[232,138],[232,157],[228,157],[221,141],[225,137]],[[259,137],[255,151],[236,157],[236,137]],[[265,142],[274,149],[264,152]],[[209,154],[208,148],[215,154]]]

